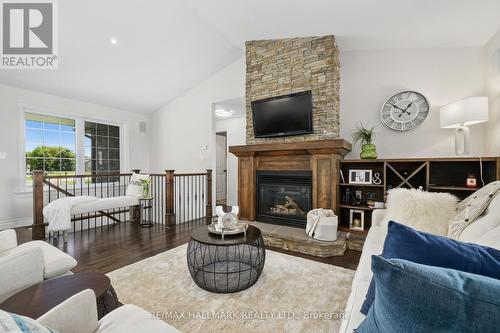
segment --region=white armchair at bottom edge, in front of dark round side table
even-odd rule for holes
[[[149,312],[127,304],[97,320],[95,294],[84,290],[37,319],[59,333],[175,333],[179,332]]]

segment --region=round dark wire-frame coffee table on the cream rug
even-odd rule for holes
[[[195,229],[187,249],[189,273],[202,289],[234,293],[257,282],[266,261],[264,240],[258,228],[243,234],[211,234],[206,226]]]

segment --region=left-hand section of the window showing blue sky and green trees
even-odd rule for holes
[[[76,133],[73,119],[25,115],[26,180],[34,170],[49,175],[76,173]]]

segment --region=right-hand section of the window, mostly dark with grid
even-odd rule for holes
[[[120,172],[120,128],[85,122],[85,173]]]

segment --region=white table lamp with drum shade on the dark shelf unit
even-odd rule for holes
[[[467,126],[489,120],[488,97],[468,97],[440,109],[441,128],[455,129],[455,154],[470,155],[470,130]]]

